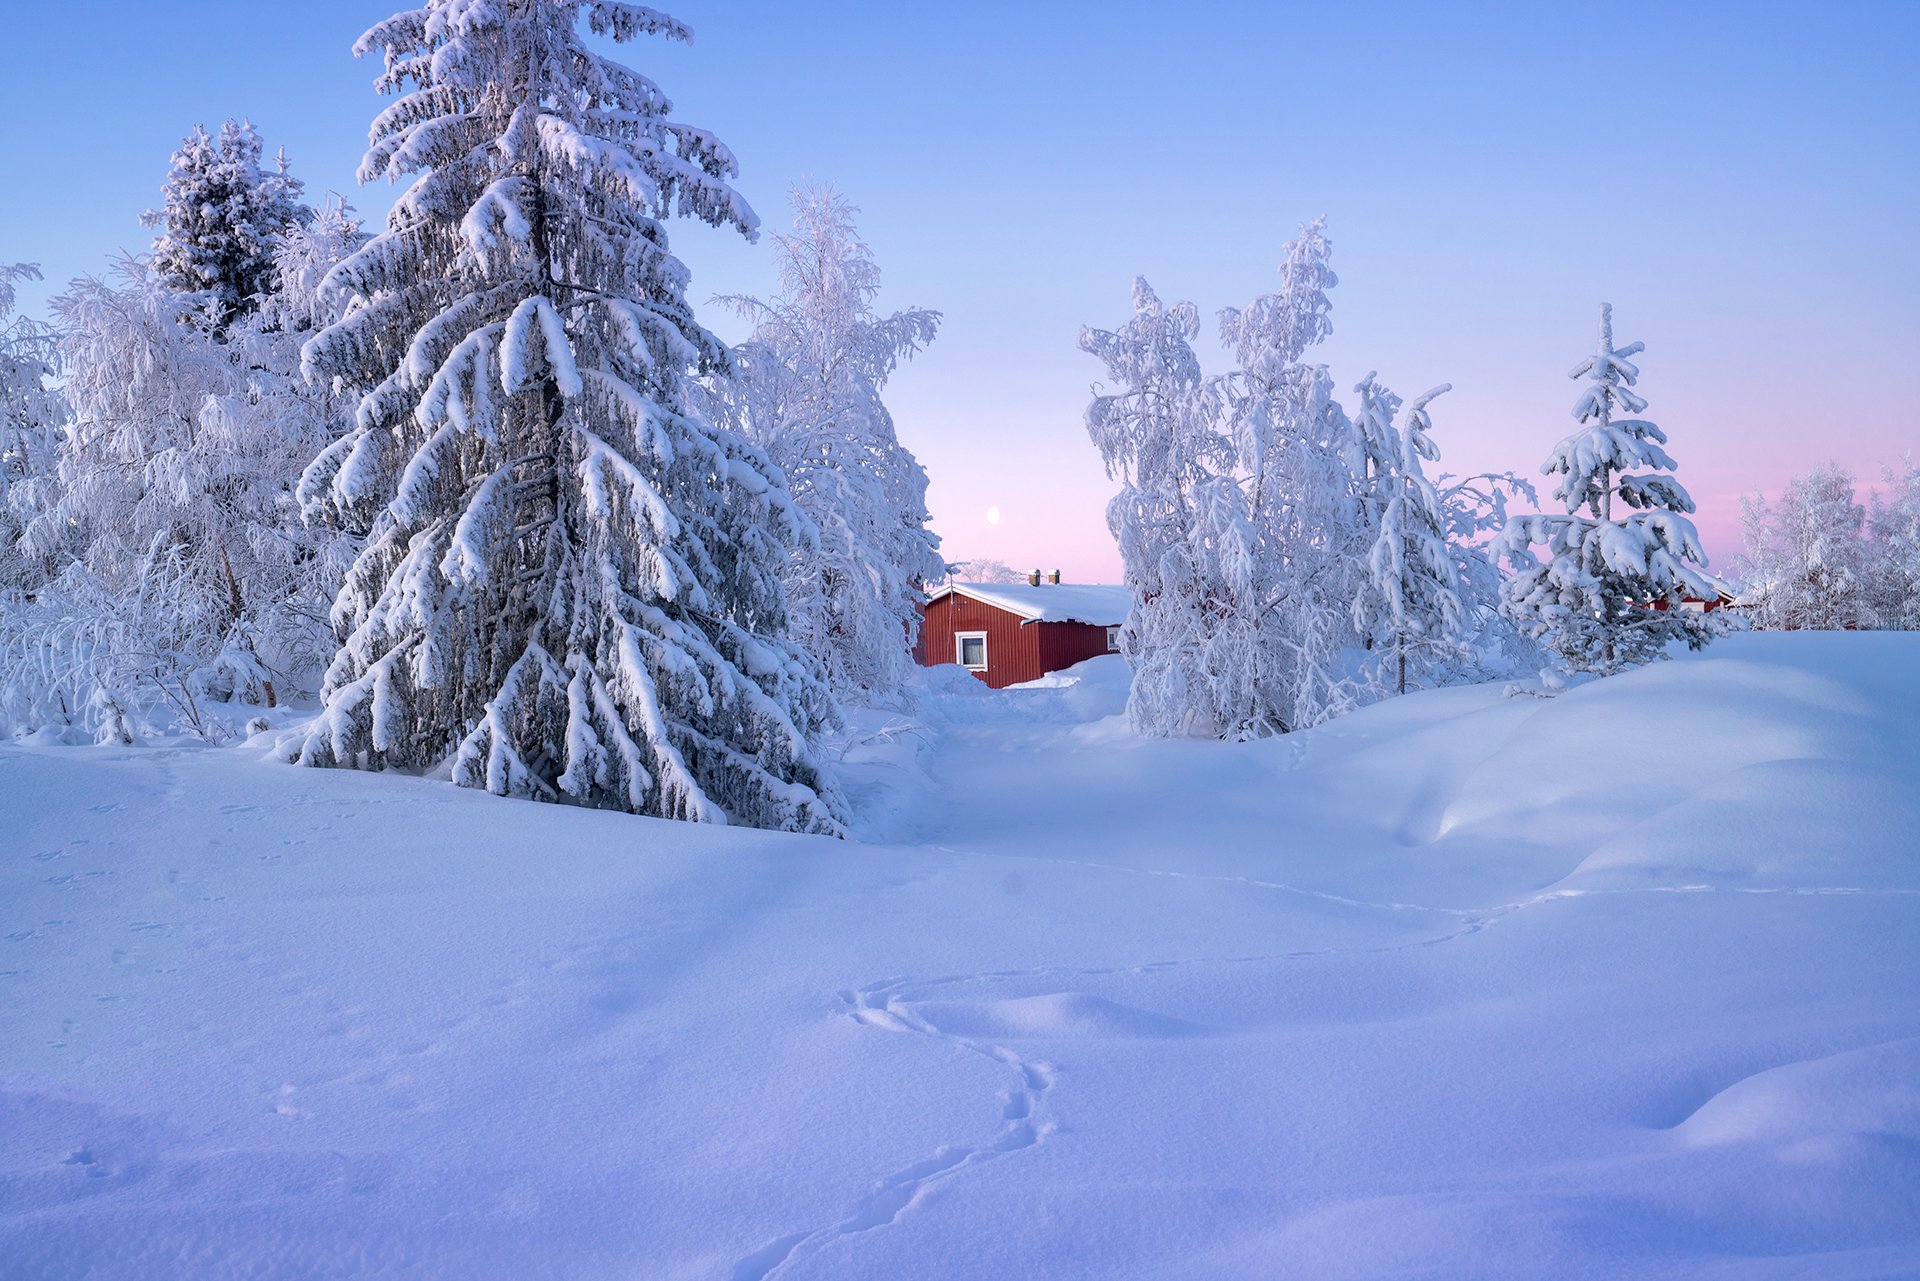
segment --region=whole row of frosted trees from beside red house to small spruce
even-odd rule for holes
[[[1198,309],[1146,280],[1125,325],[1081,334],[1112,388],[1087,430],[1121,482],[1108,524],[1133,588],[1137,730],[1260,737],[1411,688],[1605,676],[1724,630],[1686,607],[1720,584],[1611,307],[1571,373],[1578,430],[1542,465],[1561,511],[1511,513],[1538,501],[1513,472],[1427,476],[1450,386],[1404,401],[1369,373],[1340,403],[1311,359],[1331,254],[1325,223],[1304,227],[1279,288],[1219,313],[1223,375],[1200,369]]]

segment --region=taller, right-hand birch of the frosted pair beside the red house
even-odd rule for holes
[[[1334,401],[1327,367],[1306,359],[1332,332],[1331,259],[1325,219],[1315,219],[1286,244],[1281,286],[1219,317],[1236,363],[1223,403],[1252,530],[1252,592],[1236,609],[1258,632],[1254,732],[1304,730],[1359,697],[1348,655],[1359,643],[1354,597],[1377,524],[1365,459],[1392,447],[1390,432],[1369,446]]]

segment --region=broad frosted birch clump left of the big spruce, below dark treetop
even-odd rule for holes
[[[303,334],[282,298],[257,296],[261,309],[215,336],[129,259],[54,302],[71,417],[19,549],[48,567],[29,626],[65,638],[67,657],[42,672],[52,684],[31,678],[35,714],[75,728],[67,713],[92,684],[111,686],[134,724],[184,699],[273,703],[317,688],[323,601],[346,547],[301,524],[292,482],[338,434],[344,405],[298,376]],[[198,707],[173,711],[207,724]]]

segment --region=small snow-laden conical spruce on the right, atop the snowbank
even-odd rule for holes
[[[1670,641],[1701,649],[1722,632],[1715,615],[1682,607],[1688,593],[1711,599],[1718,582],[1695,568],[1705,555],[1684,515],[1693,499],[1663,474],[1676,467],[1661,447],[1667,434],[1645,419],[1615,417],[1647,407],[1632,390],[1640,369],[1628,359],[1642,350],[1613,346],[1613,307],[1601,303],[1599,348],[1569,373],[1588,380],[1572,407],[1582,428],[1540,467],[1561,476],[1553,497],[1567,515],[1515,517],[1500,538],[1515,567],[1507,616],[1569,672],[1609,676],[1665,657]],[[1534,544],[1546,544],[1546,561]]]

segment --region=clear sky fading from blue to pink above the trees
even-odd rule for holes
[[[766,225],[791,181],[833,182],[881,303],[945,311],[891,403],[948,557],[1116,580],[1079,326],[1121,323],[1135,275],[1244,303],[1321,213],[1321,359],[1342,394],[1452,382],[1448,471],[1534,474],[1601,300],[1647,344],[1716,567],[1741,494],[1920,446],[1920,4],[660,2],[695,44],[626,61],[735,150]],[[380,100],[348,50],[394,8],[10,4],[0,261],[58,282],[142,250],[169,152],[228,115],[309,196],[384,213],[353,186]],[[695,300],[774,284],[764,240],[674,246]]]

